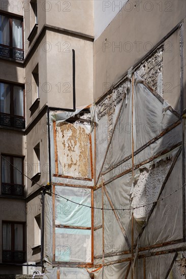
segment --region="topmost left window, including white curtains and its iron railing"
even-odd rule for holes
[[[0,55],[24,59],[22,19],[0,14]]]

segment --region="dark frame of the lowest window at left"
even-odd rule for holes
[[[3,224],[11,224],[11,250],[4,250],[3,249],[3,243],[4,243],[4,239],[3,239]],[[22,229],[23,229],[23,239],[22,239],[22,241],[23,241],[22,242],[23,249],[22,250],[15,250],[15,232],[14,232],[14,225],[15,224],[23,225],[23,227],[22,227]],[[9,262],[9,261],[6,261],[6,260],[3,259],[3,252],[20,252],[20,253],[25,253],[25,222],[2,220],[2,262]],[[24,256],[23,256],[23,258],[24,258]]]

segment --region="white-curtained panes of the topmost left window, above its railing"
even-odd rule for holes
[[[23,49],[23,21],[9,15],[0,14],[0,44]]]

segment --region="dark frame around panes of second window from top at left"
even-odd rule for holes
[[[6,116],[25,119],[25,86],[23,84],[16,84],[16,83],[11,83],[11,82],[0,80],[0,84],[1,83],[10,85],[10,114],[1,112],[1,98],[0,98],[0,115],[6,115]],[[23,90],[23,116],[14,114],[14,86],[20,86],[20,87],[22,87],[22,90]]]

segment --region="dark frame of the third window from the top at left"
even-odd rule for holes
[[[12,187],[14,185],[20,185],[22,186],[22,188],[24,189],[24,176],[22,174],[22,184],[16,184],[14,183],[14,158],[19,158],[22,160],[22,173],[24,173],[24,156],[16,156],[16,155],[10,155],[10,154],[1,154],[2,157],[10,157],[10,183],[8,182],[3,182],[2,179],[1,179],[1,189],[3,187],[3,184],[8,184],[8,185],[11,185]],[[1,157],[1,178],[3,178],[3,158]],[[3,193],[3,195],[14,195],[14,194],[9,194],[9,193]],[[17,195],[16,195],[17,196]],[[23,195],[20,195],[20,196],[23,196]]]

